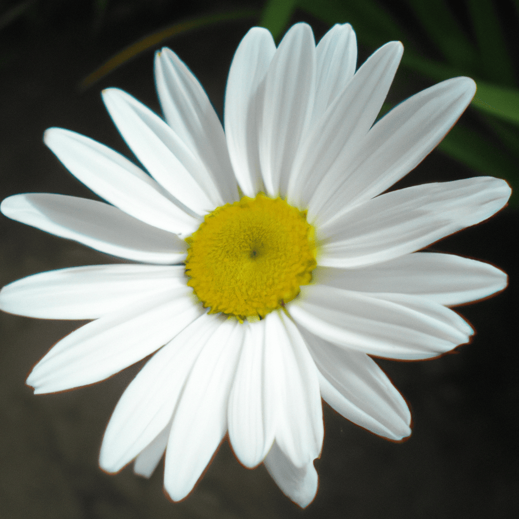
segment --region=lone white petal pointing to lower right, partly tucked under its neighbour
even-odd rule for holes
[[[308,332],[303,336],[319,368],[321,395],[337,413],[391,440],[411,434],[405,400],[373,359]]]

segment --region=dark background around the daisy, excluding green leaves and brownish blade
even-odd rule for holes
[[[0,3],[0,12],[15,2]],[[102,88],[123,88],[156,111],[153,51],[80,91],[79,81],[140,37],[185,17],[261,2],[113,1],[100,17],[94,3],[35,3],[0,31],[0,199],[23,192],[95,198],[45,147],[46,128],[84,133],[132,157],[104,110]],[[327,26],[311,23],[318,40]],[[171,38],[221,115],[228,67],[257,19],[227,22]],[[372,49],[361,48],[359,63]],[[401,70],[390,100],[430,86]],[[470,123],[471,109],[463,115]],[[474,172],[434,151],[399,186],[455,180]],[[224,442],[193,493],[171,503],[162,465],[150,480],[127,467],[98,467],[104,427],[142,363],[90,387],[38,395],[24,386],[45,352],[82,322],[0,315],[0,517],[104,519],[145,517],[456,517],[507,518],[519,511],[517,415],[517,212],[436,243],[434,250],[482,258],[510,275],[495,298],[460,308],[477,330],[472,344],[425,362],[380,360],[413,413],[413,434],[391,443],[324,405],[325,439],[316,461],[320,486],[302,511],[263,467],[244,469]],[[0,216],[0,285],[44,270],[117,262],[75,242]]]

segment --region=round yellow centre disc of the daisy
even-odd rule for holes
[[[186,239],[187,284],[210,313],[265,317],[310,283],[313,235],[306,213],[281,198],[243,197],[206,215]]]

